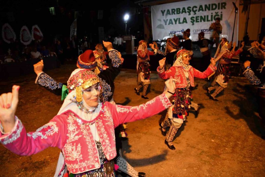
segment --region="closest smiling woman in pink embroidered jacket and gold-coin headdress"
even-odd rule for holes
[[[99,103],[100,79],[92,71],[76,69],[68,80],[69,94],[49,123],[27,133],[15,116],[19,86],[0,96],[0,142],[18,155],[36,154],[58,147],[64,156],[69,176],[114,177],[116,156],[114,128],[119,124],[144,119],[171,106],[169,92],[173,79],[166,82],[169,92],[139,106]],[[63,169],[62,169],[63,171]]]

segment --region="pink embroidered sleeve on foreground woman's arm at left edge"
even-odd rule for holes
[[[49,123],[35,132],[26,132],[24,125],[16,118],[14,129],[0,136],[0,142],[11,152],[18,155],[36,154],[48,147],[62,149],[67,135],[66,115],[57,115]]]

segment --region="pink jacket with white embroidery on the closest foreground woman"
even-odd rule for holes
[[[115,127],[153,116],[169,106],[172,104],[165,94],[139,106],[102,103],[102,109],[94,121],[107,160],[116,156]],[[58,147],[70,173],[82,173],[100,168],[99,153],[88,123],[69,110],[55,116],[36,132],[27,133],[16,118],[15,127],[9,134],[1,134],[0,142],[18,155],[32,155],[48,147]]]

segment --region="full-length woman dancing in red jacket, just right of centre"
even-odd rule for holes
[[[168,71],[164,69],[165,58],[159,61],[159,66],[157,68],[160,78],[168,79],[172,76],[176,79],[175,83],[177,89],[172,93],[174,96],[170,99],[174,105],[168,109],[165,120],[160,124],[163,135],[165,135],[165,129],[170,127],[165,139],[165,144],[171,150],[175,150],[173,138],[183,124],[191,108],[192,95],[190,87],[194,87],[194,77],[207,78],[207,76],[211,75],[211,73],[216,70],[215,60],[213,58],[211,59],[211,65],[204,72],[200,72],[189,65],[190,59],[189,51],[183,49],[177,52],[177,59]]]

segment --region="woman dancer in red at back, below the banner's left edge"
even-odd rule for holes
[[[149,55],[154,55],[154,53],[147,49],[147,42],[145,40],[140,40],[137,50],[137,87],[134,90],[137,95],[140,95],[139,90],[143,87],[143,99],[148,99],[146,91],[150,85]]]

